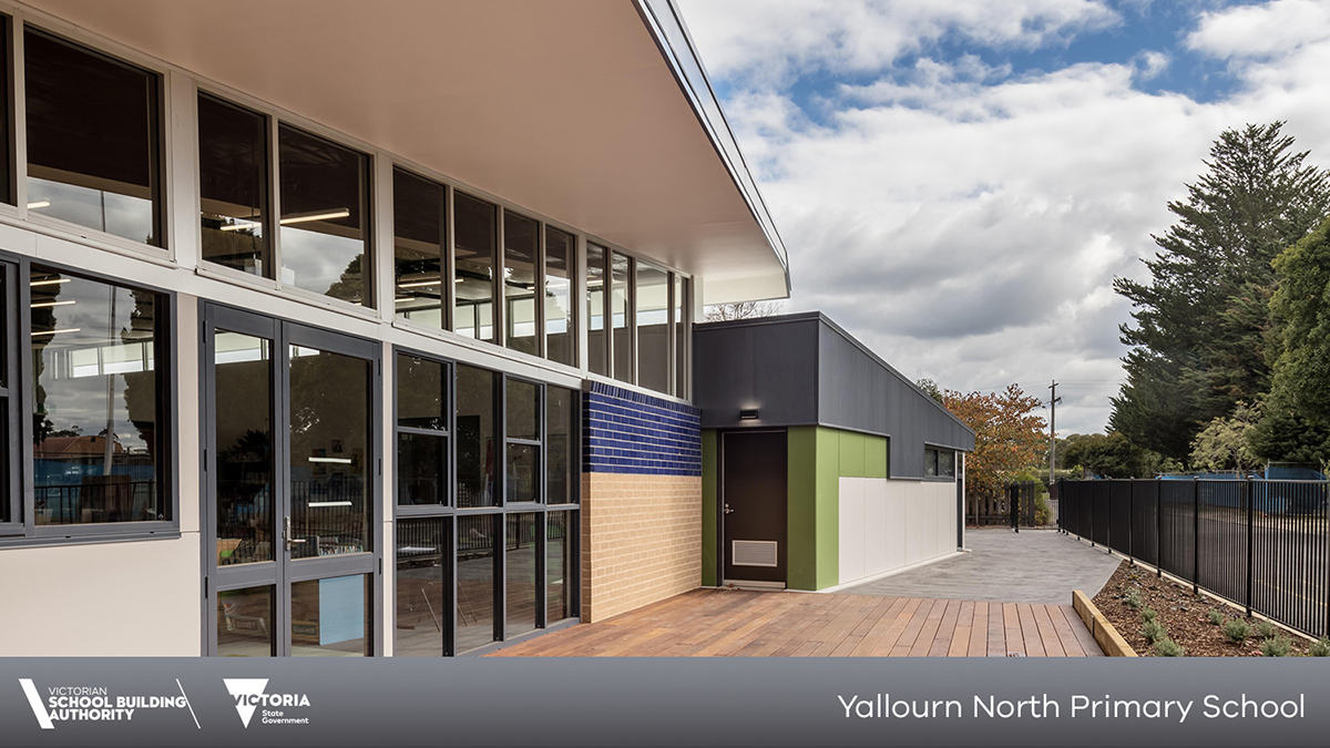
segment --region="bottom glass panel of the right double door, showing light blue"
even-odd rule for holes
[[[291,584],[291,656],[370,656],[370,584],[363,574]]]

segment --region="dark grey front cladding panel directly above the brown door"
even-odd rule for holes
[[[696,325],[693,405],[702,429],[817,423],[818,327],[817,315]],[[747,409],[758,419],[739,421]]]

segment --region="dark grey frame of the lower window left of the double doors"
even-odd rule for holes
[[[180,538],[180,346],[178,338],[185,334],[180,329],[178,297],[176,291],[153,286],[150,283],[129,282],[114,276],[94,273],[81,268],[70,268],[60,262],[48,262],[43,258],[31,258],[0,252],[0,264],[5,265],[7,276],[12,274],[17,281],[17,293],[5,294],[5,309],[11,317],[5,319],[5,346],[7,359],[11,371],[17,369],[19,379],[9,383],[11,403],[20,403],[11,407],[11,422],[19,421],[19,439],[9,449],[9,482],[20,479],[20,492],[11,496],[11,504],[17,499],[20,507],[11,514],[11,522],[0,524],[0,548],[15,546],[68,546],[80,543],[105,543],[113,540],[153,540]],[[157,466],[158,492],[162,496],[162,507],[169,512],[166,519],[148,522],[114,522],[100,524],[59,524],[39,526],[36,523],[36,468],[32,450],[32,393],[36,391],[36,381],[32,370],[32,353],[28,347],[32,327],[32,314],[29,309],[31,291],[27,278],[32,273],[32,265],[41,265],[56,269],[61,273],[77,276],[94,282],[110,283],[128,289],[137,289],[158,294],[162,299],[161,311],[165,317],[157,322],[160,334],[154,337],[154,371],[158,377],[157,414],[158,423],[165,430],[161,437],[162,457]],[[7,277],[8,281],[8,277]],[[15,309],[17,306],[17,309]],[[193,330],[190,330],[192,333]],[[15,389],[17,385],[17,390]],[[19,398],[15,401],[15,398]],[[11,434],[15,426],[11,423]],[[15,511],[15,510],[12,510]],[[15,520],[19,518],[19,520]]]

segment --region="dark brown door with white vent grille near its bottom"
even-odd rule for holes
[[[725,580],[785,584],[785,431],[721,437]]]

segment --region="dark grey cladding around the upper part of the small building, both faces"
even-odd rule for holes
[[[891,475],[923,478],[926,445],[972,451],[974,433],[822,313],[694,326],[704,429],[819,425],[891,438]],[[757,421],[739,410],[758,409]]]

